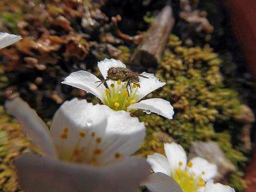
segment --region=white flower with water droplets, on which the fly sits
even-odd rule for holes
[[[99,71],[104,79],[106,79],[107,71],[110,67],[126,66],[120,60],[114,59],[105,59],[98,62]],[[125,110],[129,112],[136,109],[143,109],[147,113],[154,112],[165,118],[172,119],[174,112],[170,102],[161,98],[151,98],[140,101],[147,94],[166,84],[160,82],[154,74],[146,72],[141,74],[149,79],[139,77],[140,88],[133,84],[132,92],[129,94],[126,89],[127,82],[109,80],[106,82],[108,88],[106,88],[104,84],[98,86],[98,84],[95,83],[100,81],[98,77],[86,71],[73,72],[61,83],[72,85],[97,96],[104,105],[114,110]]]

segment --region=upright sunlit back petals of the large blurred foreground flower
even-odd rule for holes
[[[64,128],[68,128],[68,138],[61,139]],[[81,138],[79,131],[83,130],[86,137]],[[85,148],[84,161],[90,160],[93,150],[102,149],[98,163],[105,164],[113,160],[116,153],[129,156],[138,150],[146,135],[144,123],[138,118],[132,118],[125,111],[114,111],[105,105],[92,105],[86,100],[73,99],[62,104],[55,113],[51,134],[60,150],[61,158],[70,159],[77,147]],[[92,138],[91,133],[95,136]],[[101,142],[96,143],[100,137]]]

